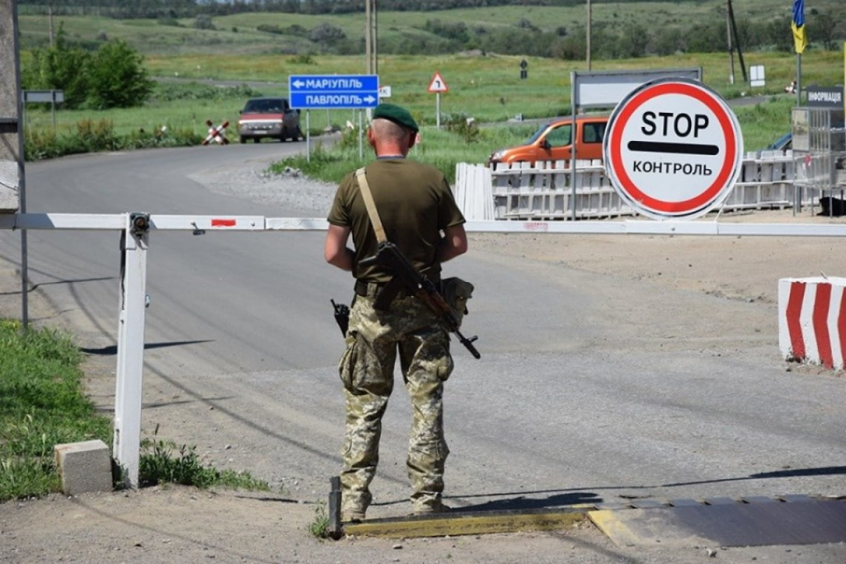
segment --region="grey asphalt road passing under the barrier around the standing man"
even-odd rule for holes
[[[303,146],[30,164],[28,211],[288,216],[213,194],[189,175]],[[0,233],[0,255],[13,264],[18,241]],[[118,234],[31,231],[29,252],[37,291],[86,349],[113,359]],[[703,352],[703,342],[731,338],[730,320],[758,304],[666,288],[642,295],[629,281],[495,255],[471,253],[449,273],[480,287],[465,332],[481,335],[482,353],[476,361],[457,347],[448,383],[453,506],[846,494],[841,379],[794,378],[755,337],[738,339],[734,354]],[[350,288],[323,262],[321,233],[151,233],[146,430],[161,424],[201,449],[238,444],[239,468],[277,482],[296,477],[322,497],[338,471],[343,429],[335,369],[342,341],[329,298],[348,301]],[[609,296],[632,311],[682,304],[723,325],[659,353],[650,336],[684,333],[680,321],[639,329],[630,311],[608,308]],[[406,511],[408,418],[398,386],[374,517]],[[843,551],[821,558],[833,564]]]

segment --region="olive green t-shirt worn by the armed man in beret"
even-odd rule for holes
[[[440,279],[441,265],[435,253],[441,232],[464,223],[443,173],[403,158],[377,160],[367,166],[366,172],[387,240],[397,245],[426,277]],[[377,241],[354,172],[338,185],[327,221],[350,227],[355,248],[354,277],[367,282],[391,279],[381,266],[359,265],[362,259],[376,253]]]

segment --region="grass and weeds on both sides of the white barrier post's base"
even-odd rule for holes
[[[111,418],[85,396],[83,354],[66,334],[50,328],[21,331],[0,320],[0,502],[61,490],[53,447],[100,439],[112,444]],[[204,466],[194,446],[143,441],[140,485],[174,483],[268,490],[246,472]]]

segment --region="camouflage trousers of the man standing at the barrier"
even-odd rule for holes
[[[382,415],[400,368],[412,407],[406,460],[416,511],[437,506],[449,449],[443,437],[443,383],[453,371],[449,335],[414,297],[393,300],[388,311],[373,308],[372,295],[356,296],[349,314],[347,349],[339,364],[346,398],[346,433],[341,474],[342,511],[364,513],[379,462]]]

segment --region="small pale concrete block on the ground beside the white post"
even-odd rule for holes
[[[56,445],[56,466],[62,477],[62,491],[76,496],[89,491],[111,491],[112,457],[103,441]]]

